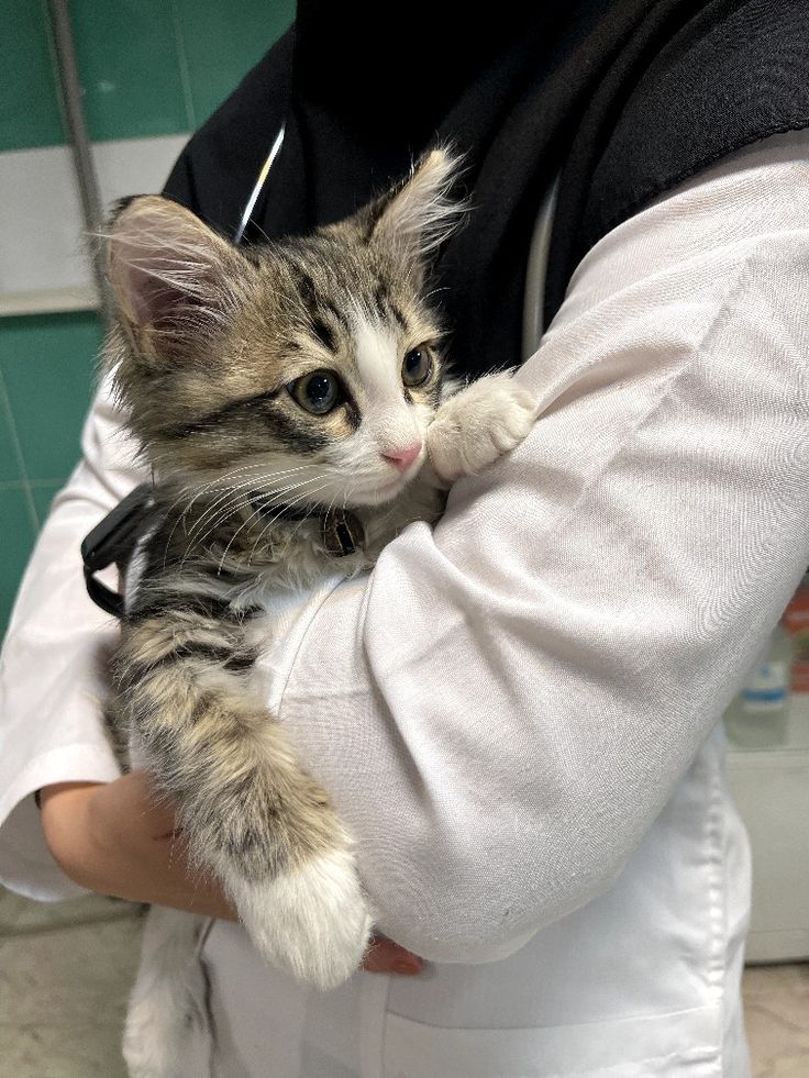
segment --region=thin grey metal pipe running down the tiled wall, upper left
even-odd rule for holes
[[[76,170],[76,181],[81,197],[81,209],[85,218],[85,230],[90,238],[90,259],[92,274],[101,304],[101,315],[107,323],[112,323],[112,305],[107,287],[107,278],[101,263],[101,251],[96,238],[103,224],[103,211],[99,195],[98,177],[92,160],[90,138],[87,132],[84,104],[81,102],[81,84],[79,82],[76,63],[76,46],[74,43],[70,13],[67,0],[48,0],[51,20],[56,45],[56,60],[59,70],[62,90],[62,108],[67,124],[73,163]]]

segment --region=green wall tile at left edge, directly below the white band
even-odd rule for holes
[[[0,370],[27,477],[64,479],[79,455],[100,323],[81,311],[4,319],[0,330]]]

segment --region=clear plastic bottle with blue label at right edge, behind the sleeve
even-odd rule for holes
[[[793,642],[778,622],[724,713],[732,743],[743,748],[777,748],[787,743],[791,666]]]

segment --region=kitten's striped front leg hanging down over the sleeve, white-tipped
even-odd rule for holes
[[[237,621],[193,608],[128,626],[119,705],[192,857],[225,887],[268,960],[320,988],[346,980],[372,915],[351,842],[251,688]]]

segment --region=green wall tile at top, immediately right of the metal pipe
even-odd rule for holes
[[[192,125],[170,4],[71,0],[70,19],[91,138],[175,134]]]

